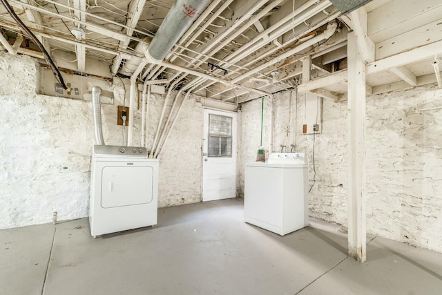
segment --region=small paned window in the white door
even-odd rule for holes
[[[232,156],[232,118],[209,114],[209,157]]]

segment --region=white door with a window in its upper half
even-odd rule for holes
[[[204,109],[202,200],[236,197],[236,113]]]

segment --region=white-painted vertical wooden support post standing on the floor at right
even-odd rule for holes
[[[348,255],[358,261],[366,259],[365,216],[365,63],[354,32],[348,35],[349,196]]]

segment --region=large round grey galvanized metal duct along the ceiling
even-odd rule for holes
[[[159,64],[209,2],[210,0],[176,0],[146,50],[148,62]]]

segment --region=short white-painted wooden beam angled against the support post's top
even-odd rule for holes
[[[367,36],[367,11],[361,7],[350,12],[359,52],[366,63],[374,61],[374,42]]]

